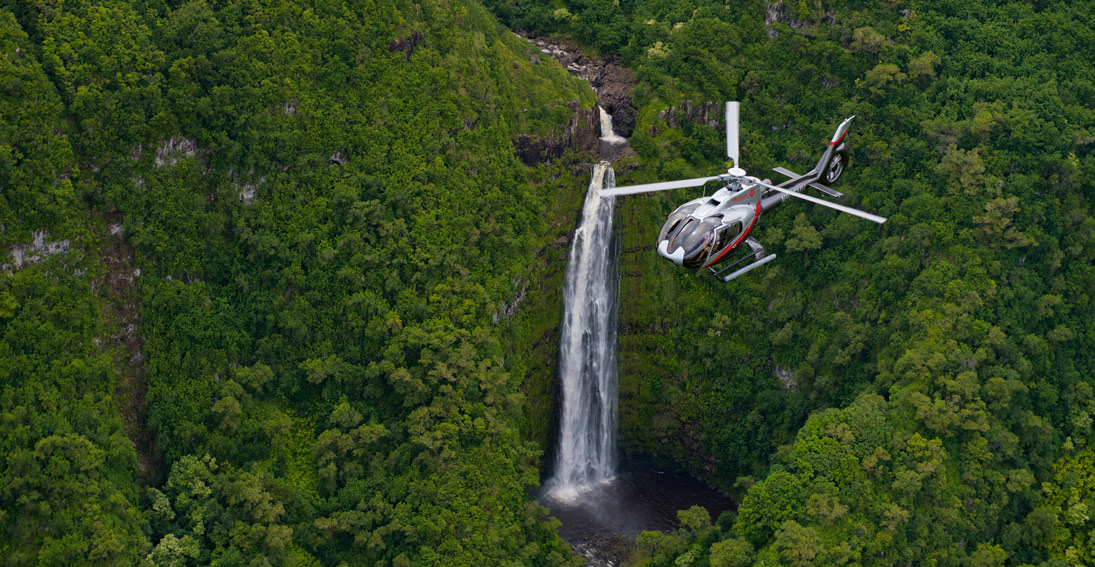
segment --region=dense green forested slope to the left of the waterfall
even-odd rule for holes
[[[588,85],[472,2],[15,0],[0,49],[0,563],[570,563],[512,340],[586,182],[511,140]]]

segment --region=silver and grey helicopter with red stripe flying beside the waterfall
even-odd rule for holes
[[[757,225],[758,219],[788,197],[805,199],[877,223],[886,222],[885,218],[877,215],[802,193],[809,187],[829,197],[843,197],[842,193],[826,184],[831,184],[840,178],[849,163],[844,138],[848,136],[849,126],[855,116],[840,123],[832,140],[829,141],[825,153],[821,154],[821,159],[818,160],[812,170],[805,175],[799,175],[784,167],[774,167],[772,171],[788,177],[788,180],[779,185],[772,185],[769,180],[761,181],[746,175],[746,171],[738,166],[738,102],[726,103],[726,155],[734,161],[734,166],[726,173],[711,177],[646,183],[600,190],[601,196],[610,197],[700,187],[716,181],[724,184],[710,197],[703,196],[692,199],[678,207],[669,216],[658,234],[659,255],[678,266],[707,268],[715,277],[723,281],[730,281],[775,259],[775,254],[765,254],[764,246],[749,234]],[[822,181],[826,184],[822,184]],[[748,247],[747,251],[742,244]],[[745,253],[735,253],[735,251],[745,251]],[[730,264],[715,267],[716,264],[735,257],[737,259]],[[741,266],[742,263],[750,259],[752,259],[751,263]],[[741,267],[738,268],[738,266]]]

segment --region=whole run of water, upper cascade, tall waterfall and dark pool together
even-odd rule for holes
[[[545,53],[553,57],[567,55],[550,47]],[[612,115],[600,107],[598,112],[601,159],[626,154],[627,140],[613,131]],[[644,464],[635,455],[618,471],[614,204],[612,197],[598,195],[602,186],[615,186],[607,162],[593,169],[567,261],[558,449],[554,475],[544,482],[541,496],[561,522],[558,534],[590,567],[615,567],[631,555],[642,532],[679,528],[678,510],[700,504],[717,518],[734,505],[694,478]]]

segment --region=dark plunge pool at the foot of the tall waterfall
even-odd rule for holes
[[[591,566],[620,565],[639,533],[680,528],[677,511],[702,506],[714,522],[734,502],[682,473],[653,468],[622,472],[572,501],[540,496],[562,522],[560,535]]]

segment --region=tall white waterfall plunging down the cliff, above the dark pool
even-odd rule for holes
[[[602,111],[602,119],[606,116]],[[611,119],[610,119],[611,120]],[[609,130],[611,134],[611,123]],[[615,186],[608,162],[593,169],[581,223],[566,265],[560,380],[563,410],[549,496],[573,500],[615,474],[616,265],[612,241],[614,198],[598,189]]]

